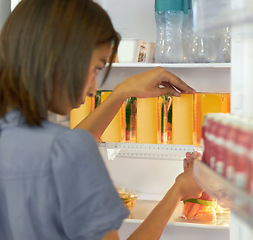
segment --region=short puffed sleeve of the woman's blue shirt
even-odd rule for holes
[[[99,240],[129,214],[113,186],[93,137],[83,130],[59,135],[52,149],[59,214],[68,238]]]

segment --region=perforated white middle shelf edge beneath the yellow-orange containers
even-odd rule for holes
[[[186,152],[200,151],[200,147],[194,145],[175,144],[105,142],[100,143],[99,147],[107,151],[108,160],[121,157],[181,161],[185,158]]]

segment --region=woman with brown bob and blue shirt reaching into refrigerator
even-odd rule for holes
[[[96,93],[97,72],[118,43],[91,0],[22,0],[7,19],[0,36],[0,239],[119,239],[129,212],[94,138],[130,96],[194,90],[156,68],[116,86],[79,129],[49,122],[48,111],[68,115]],[[129,239],[159,239],[178,202],[200,192],[190,160]]]

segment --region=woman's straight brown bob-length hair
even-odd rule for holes
[[[111,66],[119,40],[92,0],[22,0],[0,35],[0,118],[16,107],[27,124],[40,125],[63,94],[74,107],[94,48],[112,42]]]

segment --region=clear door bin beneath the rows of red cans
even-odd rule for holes
[[[227,181],[200,160],[194,163],[194,174],[199,184],[210,195],[252,227],[253,196]]]

